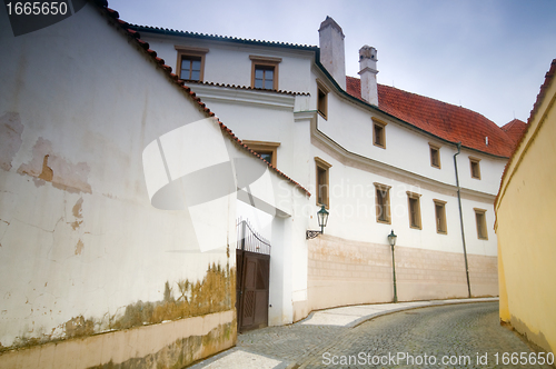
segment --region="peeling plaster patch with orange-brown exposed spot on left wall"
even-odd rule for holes
[[[34,184],[40,187],[51,182],[53,187],[72,192],[91,193],[88,182],[90,172],[86,162],[72,163],[52,150],[52,142],[39,137],[32,149],[32,159],[22,163],[18,173],[34,177]]]

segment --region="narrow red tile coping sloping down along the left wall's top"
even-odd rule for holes
[[[120,14],[116,10],[112,10],[112,9],[108,8],[108,2],[106,0],[95,0],[95,3],[99,8],[103,9],[106,11],[106,13],[108,14],[108,17],[112,18],[116,21],[116,23],[115,23],[116,27],[120,27],[128,34],[129,38],[135,39],[135,41],[137,42],[137,44],[139,44],[142,48],[142,50],[145,50],[145,52],[150,58],[152,58],[155,60],[155,62],[157,63],[157,67],[160,68],[160,69],[162,69],[166,72],[166,74],[170,78],[170,80],[173,83],[178,84],[182,89],[182,91],[186,93],[186,96],[188,98],[192,99],[193,102],[197,102],[198,107],[201,109],[201,111],[205,112],[205,114],[207,117],[214,117],[218,121],[218,124],[220,126],[220,129],[232,141],[235,141],[244,150],[248,151],[252,156],[255,156],[255,157],[259,158],[260,160],[262,160],[271,170],[274,170],[275,172],[277,172],[280,177],[285,178],[286,180],[290,181],[296,188],[298,188],[299,190],[301,190],[302,192],[305,192],[307,196],[310,196],[310,192],[306,188],[304,188],[301,184],[299,184],[298,182],[296,182],[295,180],[292,180],[291,178],[289,178],[288,176],[286,176],[278,168],[276,168],[272,164],[268,163],[257,152],[255,152],[247,144],[245,144],[244,142],[241,142],[241,140],[239,138],[237,138],[236,134],[234,134],[234,132],[231,131],[231,129],[229,129],[228,127],[226,127],[226,124],[224,124],[220,121],[220,119],[218,119],[216,117],[216,114],[212,111],[210,111],[209,108],[207,108],[207,106],[205,104],[205,102],[202,102],[201,99],[199,99],[196,96],[196,93],[188,86],[183,84],[183,80],[180,80],[178,78],[178,76],[176,76],[175,73],[172,73],[172,68],[170,66],[167,66],[165,63],[163,59],[158,58],[156,51],[149,49],[149,43],[140,39],[139,32],[130,29],[130,24],[128,22],[122,21],[121,19],[119,19]]]

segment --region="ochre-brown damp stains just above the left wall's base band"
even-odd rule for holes
[[[176,298],[176,296],[178,296]],[[61,325],[63,333],[53,338],[18,337],[11,347],[2,347],[0,352],[16,348],[31,347],[63,339],[87,337],[102,332],[116,331],[133,327],[155,325],[167,320],[205,316],[208,313],[231,310],[236,306],[236,269],[222,268],[220,263],[209,265],[202,281],[179,280],[175,285],[165,283],[161,301],[137,301],[128,305],[123,315],[106,313],[101,319],[83,316],[75,317]]]

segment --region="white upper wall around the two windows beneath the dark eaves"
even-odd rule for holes
[[[284,91],[307,92],[310,88],[309,52],[291,52],[285,48],[247,46],[232,42],[199,40],[190,37],[160,37],[141,32],[141,39],[149,42],[150,48],[177,68],[175,46],[208,48],[205,57],[203,81],[224,84],[251,86],[251,60],[249,56],[281,58],[278,64],[278,89]],[[193,86],[193,83],[191,83]]]

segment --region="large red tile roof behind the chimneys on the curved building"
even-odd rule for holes
[[[358,78],[346,77],[346,90],[363,100]],[[443,140],[461,142],[469,149],[508,158],[515,146],[504,130],[473,110],[394,87],[378,84],[378,108]]]

